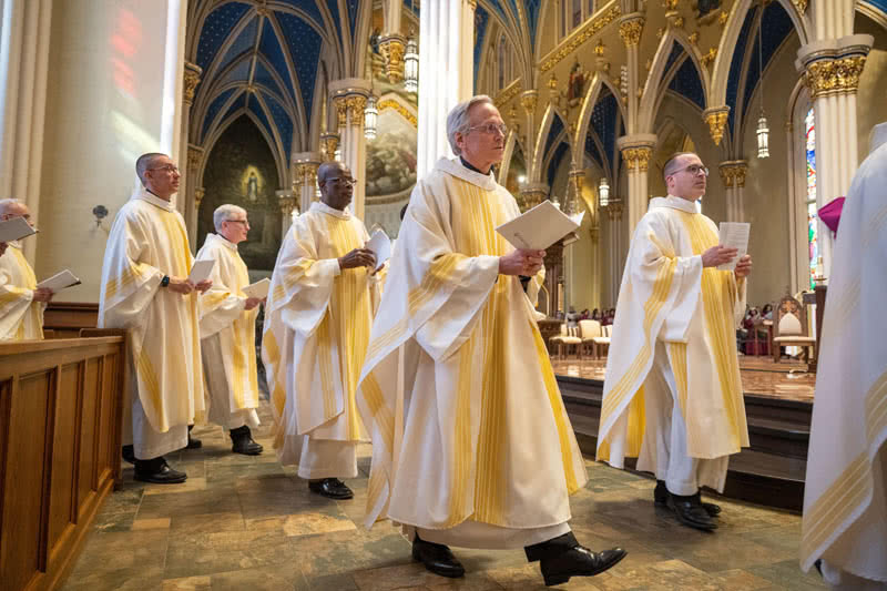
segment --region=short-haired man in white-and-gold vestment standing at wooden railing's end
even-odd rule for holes
[[[120,208],[102,265],[99,327],[125,328],[130,376],[123,442],[133,445],[135,479],[183,482],[163,458],[188,442],[187,426],[204,411],[197,293],[212,281],[188,279],[193,256],[171,198],[179,169],[165,154],[139,157],[141,184]]]

